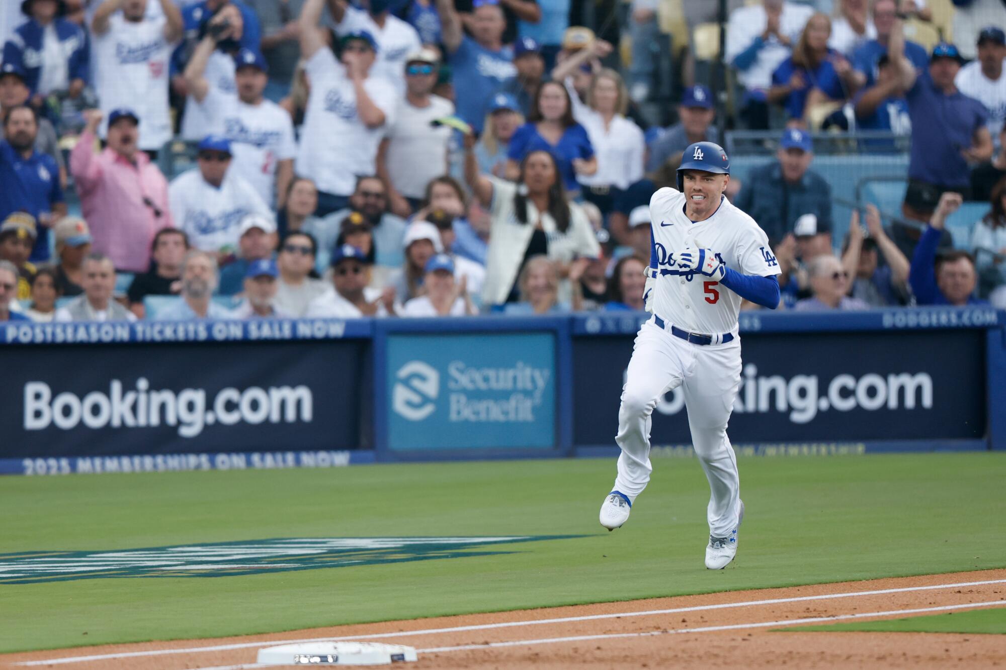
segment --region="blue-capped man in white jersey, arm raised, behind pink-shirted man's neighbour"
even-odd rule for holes
[[[263,96],[269,74],[261,53],[241,49],[234,56],[236,98],[213,87],[205,69],[216,43],[211,35],[203,37],[189,60],[185,68],[189,95],[199,105],[210,132],[230,141],[236,159],[233,173],[270,206],[282,207],[294,177],[294,124],[283,108]]]

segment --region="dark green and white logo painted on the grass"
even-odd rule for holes
[[[582,535],[498,537],[306,537],[158,546],[123,551],[0,553],[0,584],[107,577],[232,576],[322,567],[495,556],[495,545]]]

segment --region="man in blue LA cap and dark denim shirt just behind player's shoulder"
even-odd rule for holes
[[[831,187],[810,169],[814,160],[810,134],[787,129],[776,158],[775,163],[751,170],[733,204],[750,214],[773,241],[793,232],[797,219],[806,214],[815,217],[816,233],[830,233]]]

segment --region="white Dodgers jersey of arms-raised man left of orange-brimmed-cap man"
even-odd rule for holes
[[[345,66],[329,48],[320,48],[305,64],[311,95],[301,129],[297,174],[314,180],[319,191],[350,195],[356,177],[374,174],[377,145],[394,124],[397,94],[381,77],[368,76],[363,88],[384,113],[384,125],[367,128],[356,111],[356,91]]]

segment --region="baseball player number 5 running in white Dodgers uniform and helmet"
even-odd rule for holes
[[[709,480],[709,544],[705,566],[725,567],[737,552],[744,514],[737,461],[726,437],[740,384],[740,299],[779,305],[779,264],[754,220],[723,196],[730,163],[722,147],[685,149],[678,190],[650,199],[652,240],[646,309],[653,316],[636,344],[619,408],[622,455],[614,490],[601,506],[609,530],[629,519],[650,481],[650,426],[657,400],[682,387],[692,444]]]

